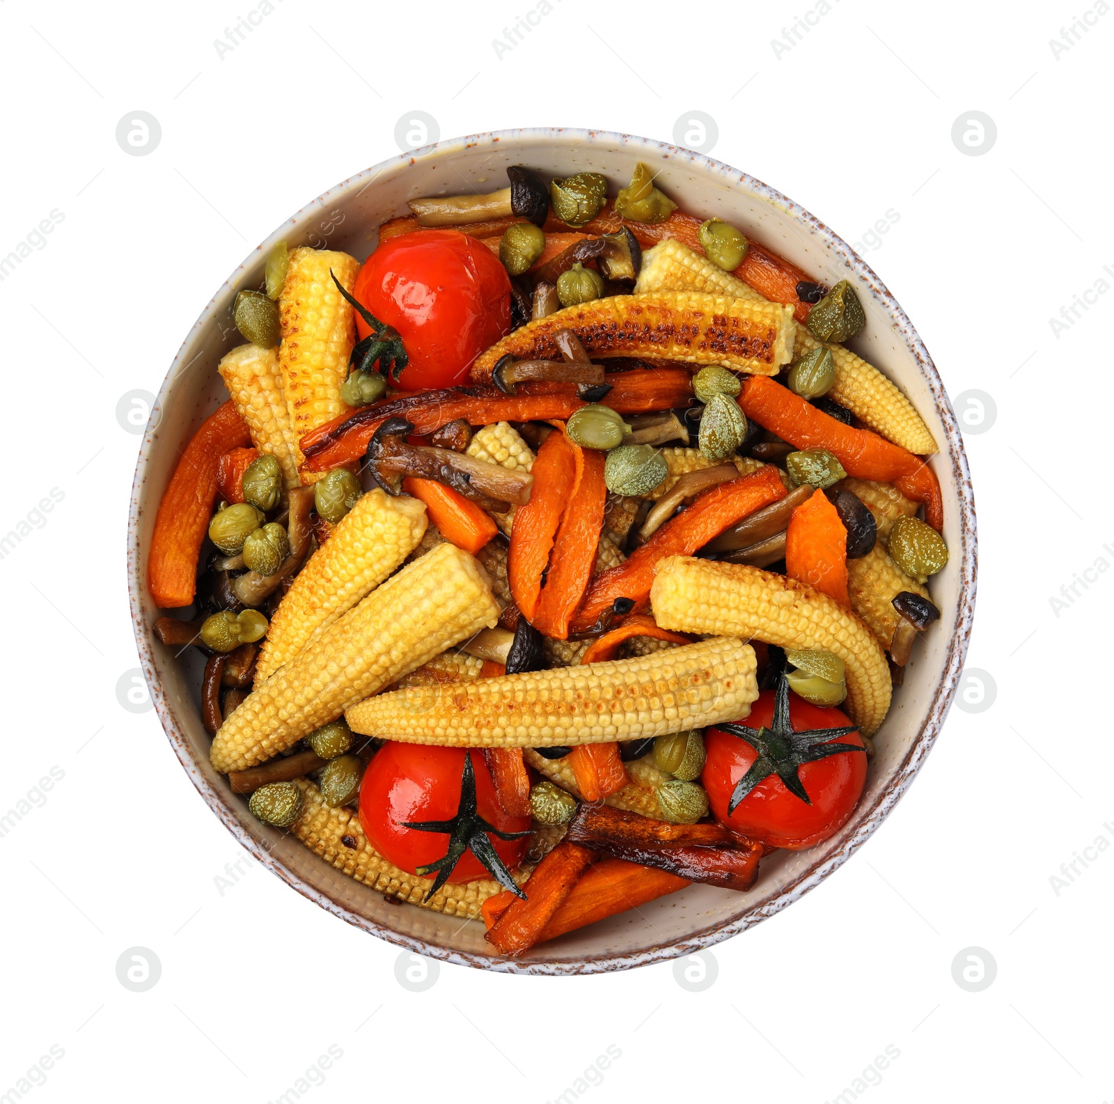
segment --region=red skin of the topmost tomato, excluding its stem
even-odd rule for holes
[[[409,363],[405,391],[462,382],[472,361],[510,332],[510,277],[482,242],[456,229],[389,238],[364,262],[352,294],[394,326]],[[356,314],[361,338],[371,332]]]

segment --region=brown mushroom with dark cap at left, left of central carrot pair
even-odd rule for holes
[[[388,418],[368,446],[371,476],[389,495],[401,494],[403,477],[417,476],[444,483],[492,514],[506,514],[511,506],[530,500],[534,476],[529,472],[449,449],[410,444],[405,437],[412,430],[413,423],[404,418]]]

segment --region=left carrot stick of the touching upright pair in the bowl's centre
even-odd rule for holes
[[[534,624],[541,573],[549,563],[561,512],[576,481],[576,456],[564,433],[550,433],[534,460],[530,500],[515,511],[507,583],[515,605]]]

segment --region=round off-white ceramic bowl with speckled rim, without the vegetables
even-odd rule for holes
[[[202,726],[196,651],[176,656],[152,633],[158,616],[145,585],[147,548],[159,498],[178,450],[224,397],[219,358],[240,342],[231,305],[257,286],[264,258],[280,240],[345,250],[359,258],[377,227],[405,214],[407,199],[504,187],[504,169],[525,164],[545,176],[590,169],[613,186],[635,162],[654,166],[663,189],[684,209],[724,218],[782,254],[813,279],[849,280],[867,307],[857,352],[881,367],[909,395],[940,444],[932,467],[944,489],[950,560],[932,583],[940,621],[918,645],[905,685],[876,736],[866,791],[852,819],[827,842],[763,860],[746,893],[691,886],[637,911],[613,917],[514,961],[494,957],[479,921],[441,917],[384,898],[329,867],[295,839],[260,823],[208,761]],[[128,580],[140,662],[159,720],[190,781],[228,831],[264,866],[322,908],[401,947],[446,961],[528,974],[589,974],[691,954],[773,916],[831,875],[883,821],[912,782],[944,723],[962,670],[975,604],[975,508],[967,460],[940,377],[912,323],[870,266],[809,212],[760,180],[710,157],[664,143],[600,130],[534,128],[439,141],[369,168],[303,207],[252,252],[217,290],[189,331],[152,411],[136,467],[128,521]]]

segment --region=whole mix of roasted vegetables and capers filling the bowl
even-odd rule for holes
[[[837,832],[948,549],[849,281],[507,175],[275,246],[146,553],[251,812],[514,956]]]

